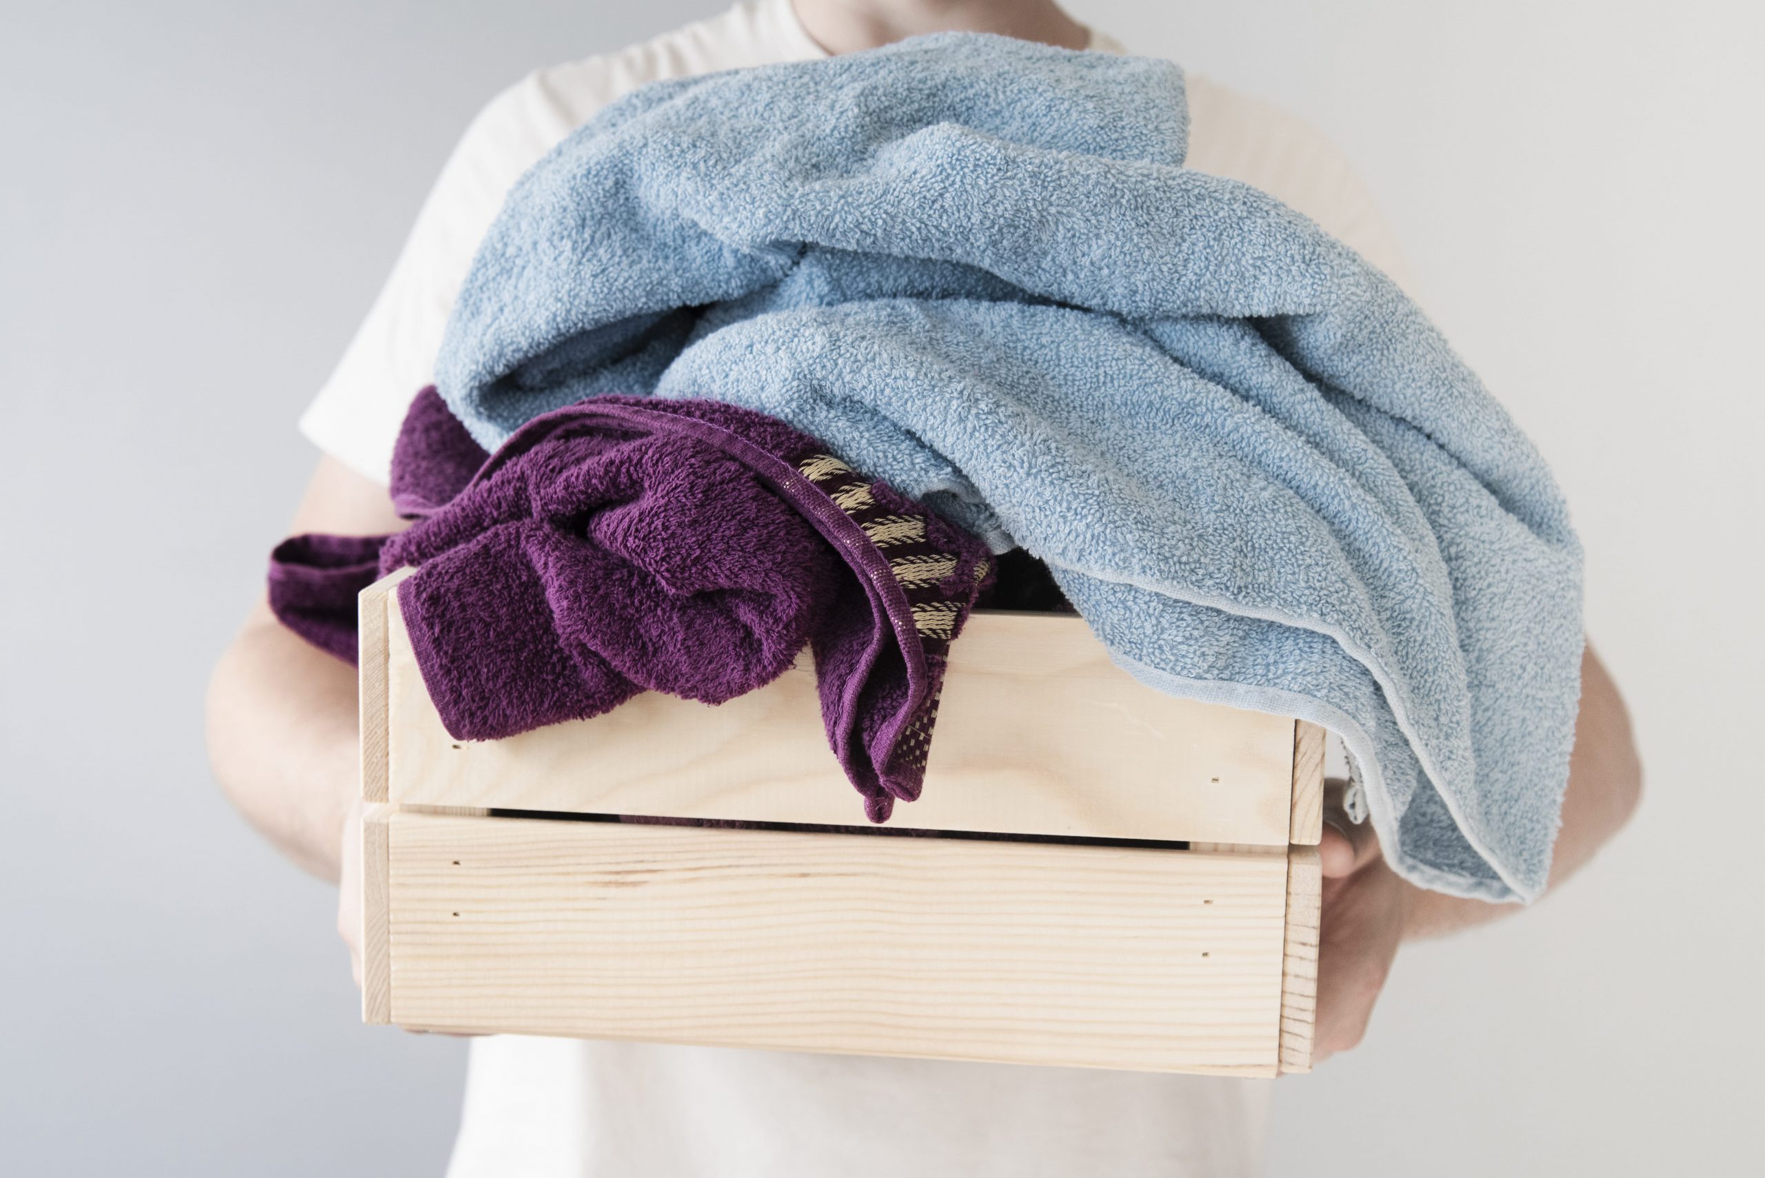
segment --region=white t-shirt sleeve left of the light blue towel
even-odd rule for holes
[[[344,466],[385,483],[417,390],[432,383],[441,332],[515,180],[570,130],[540,74],[473,118],[431,189],[392,275],[342,360],[300,418],[300,432]]]

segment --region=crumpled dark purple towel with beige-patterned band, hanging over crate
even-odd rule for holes
[[[913,801],[985,545],[782,421],[710,400],[568,406],[494,455],[424,390],[394,457],[394,536],[295,536],[284,624],[355,660],[355,594],[399,585],[447,730],[485,741],[639,691],[722,704],[815,654],[828,741],[874,822]]]

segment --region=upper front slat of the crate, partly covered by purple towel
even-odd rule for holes
[[[503,741],[441,727],[390,598],[395,802],[861,824],[808,658],[720,707],[642,695]],[[1287,846],[1294,721],[1179,700],[1108,660],[1084,621],[980,614],[955,642],[925,795],[891,825]]]

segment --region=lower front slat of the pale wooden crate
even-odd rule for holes
[[[1274,1074],[1287,862],[397,813],[392,1018]]]

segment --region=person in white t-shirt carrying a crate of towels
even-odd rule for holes
[[[1124,51],[1054,0],[743,0],[625,51],[542,69],[466,130],[335,374],[302,418],[321,457],[293,531],[388,533],[392,443],[431,367],[478,238],[515,178],[598,108],[660,78],[976,30]],[[1317,130],[1202,76],[1186,79],[1188,164],[1264,189],[1400,286],[1408,275],[1364,185]],[[215,774],[297,864],[339,878],[355,949],[358,878],[342,852],[357,792],[355,675],[258,601],[208,704]],[[1624,704],[1588,649],[1551,884],[1629,816],[1640,769]],[[1336,813],[1326,875],[1317,1056],[1356,1046],[1400,942],[1511,906],[1424,892]],[[482,1037],[471,1042],[450,1174],[1255,1173],[1266,1081]]]

